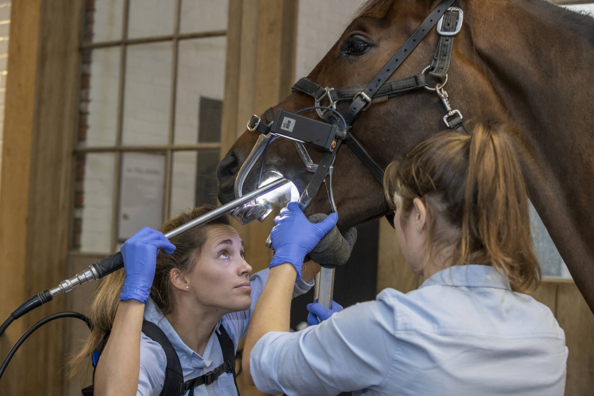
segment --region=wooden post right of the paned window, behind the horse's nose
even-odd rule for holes
[[[230,0],[221,157],[244,133],[249,116],[263,113],[290,93],[295,82],[297,0]],[[235,222],[253,271],[270,263],[264,241],[273,215],[246,226]],[[261,395],[238,377],[242,395]]]

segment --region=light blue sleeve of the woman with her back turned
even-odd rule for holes
[[[359,303],[298,332],[271,331],[249,357],[255,385],[268,394],[336,395],[378,387],[394,359],[393,308]]]

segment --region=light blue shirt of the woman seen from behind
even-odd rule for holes
[[[305,330],[268,332],[249,359],[270,394],[563,395],[565,334],[492,267],[450,267]]]

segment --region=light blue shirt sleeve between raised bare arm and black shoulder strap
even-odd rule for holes
[[[156,341],[146,335],[140,337],[140,373],[136,396],[151,396],[156,389],[163,389],[167,358]],[[157,394],[159,394],[157,392]]]

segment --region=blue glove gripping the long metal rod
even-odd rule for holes
[[[132,235],[122,248],[124,258],[124,287],[119,299],[126,301],[135,299],[146,303],[149,298],[150,287],[153,284],[154,270],[157,264],[157,253],[163,249],[169,254],[175,246],[162,232],[144,227]]]

